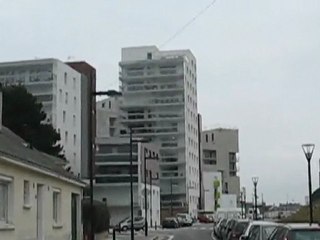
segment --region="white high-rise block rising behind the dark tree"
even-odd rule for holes
[[[80,173],[82,124],[81,87],[79,72],[57,59],[0,63],[2,85],[22,84],[43,105],[48,123],[61,135],[63,153],[71,171]]]

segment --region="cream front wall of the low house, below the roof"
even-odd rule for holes
[[[78,238],[82,239],[81,226],[81,187],[64,182],[54,177],[36,173],[31,170],[0,161],[0,176],[12,177],[11,198],[9,203],[9,221],[12,230],[1,230],[2,240],[35,240],[37,237],[37,184],[43,185],[43,232],[44,239],[69,240],[71,238],[71,194],[77,194],[77,229]],[[30,181],[30,206],[24,208],[24,181]],[[61,227],[54,227],[53,221],[53,189],[61,191]],[[11,207],[10,207],[11,206]],[[12,207],[13,206],[13,207]]]

